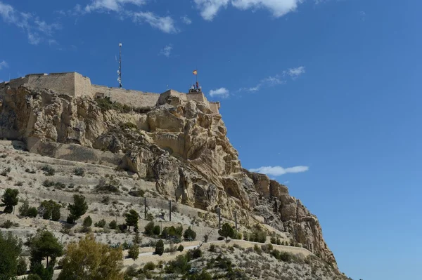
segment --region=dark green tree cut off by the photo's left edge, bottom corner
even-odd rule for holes
[[[18,257],[22,252],[22,241],[11,232],[0,232],[0,279],[11,279],[18,271]],[[4,276],[5,278],[2,278]]]

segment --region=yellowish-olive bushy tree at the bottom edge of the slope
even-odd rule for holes
[[[63,268],[58,280],[124,279],[122,248],[100,244],[96,242],[94,234],[88,234],[78,243],[69,244],[60,265]]]

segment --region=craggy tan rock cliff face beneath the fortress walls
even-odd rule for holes
[[[219,206],[229,218],[236,209],[245,223],[262,215],[336,265],[316,216],[286,186],[242,169],[222,116],[202,102],[169,95],[143,112],[123,112],[88,97],[20,86],[4,96],[0,138],[23,140],[40,154],[49,154],[52,142],[113,152],[119,168],[154,180],[162,196],[208,211]]]

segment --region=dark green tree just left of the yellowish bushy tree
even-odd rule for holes
[[[51,279],[53,276],[56,258],[63,255],[63,246],[54,235],[47,231],[41,230],[27,241],[31,254],[31,272],[41,276],[41,279]],[[46,268],[42,265],[42,261],[46,260]]]

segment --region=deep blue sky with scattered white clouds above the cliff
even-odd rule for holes
[[[422,274],[421,1],[0,0],[0,80],[80,72],[222,102],[245,168],[318,215],[353,279]]]

